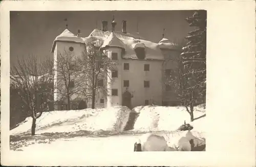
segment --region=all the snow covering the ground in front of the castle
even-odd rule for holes
[[[129,114],[138,113],[133,130],[123,131]],[[205,107],[196,106],[194,122],[184,107],[138,106],[132,111],[125,106],[45,112],[36,122],[36,135],[30,136],[32,118],[12,129],[12,150],[33,151],[133,151],[134,142],[145,133],[164,136],[169,147],[177,145],[187,132],[177,131],[186,121],[194,126],[197,138],[205,138]],[[184,142],[187,142],[184,141]]]

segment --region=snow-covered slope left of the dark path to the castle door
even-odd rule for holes
[[[36,134],[74,132],[79,130],[123,131],[131,110],[124,106],[100,109],[51,111],[43,113],[36,121]],[[10,131],[10,135],[30,133],[32,118]]]

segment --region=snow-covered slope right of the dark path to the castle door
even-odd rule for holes
[[[204,130],[204,121],[201,121],[204,117],[190,123],[190,115],[184,107],[145,106],[143,108],[135,107],[133,110],[140,113],[134,130],[175,131],[184,124],[184,121],[193,125],[199,132]],[[195,118],[204,114],[197,110],[194,111]]]

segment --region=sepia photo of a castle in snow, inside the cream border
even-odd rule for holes
[[[206,151],[206,22],[10,11],[10,150]]]

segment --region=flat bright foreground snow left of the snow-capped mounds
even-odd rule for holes
[[[120,142],[121,141],[121,142]],[[34,144],[19,148],[23,151],[128,151],[133,152],[134,136],[111,136],[111,137],[74,137],[69,139],[58,139],[50,144]]]

